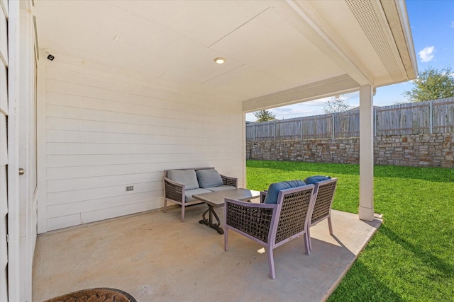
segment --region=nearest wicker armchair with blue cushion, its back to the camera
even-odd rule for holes
[[[267,195],[277,194],[274,203],[254,204],[225,199],[224,250],[228,250],[228,231],[236,231],[265,247],[271,279],[275,279],[273,250],[294,238],[304,240],[304,250],[309,255],[306,231],[309,214],[314,205],[314,185],[284,188],[276,192],[270,185]],[[265,193],[264,193],[265,194]],[[273,200],[265,200],[273,202]]]

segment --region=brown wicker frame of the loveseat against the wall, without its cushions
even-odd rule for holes
[[[204,170],[204,169],[214,169],[214,167],[206,168],[184,168],[178,170]],[[185,186],[181,183],[175,182],[170,178],[167,178],[167,172],[170,170],[164,170],[164,212],[167,211],[167,202],[174,202],[179,204],[182,207],[182,222],[184,222],[184,211],[187,206],[192,204],[202,204],[204,202],[200,200],[194,200],[191,202],[186,202],[184,200]],[[233,187],[238,187],[238,178],[232,178],[229,176],[221,175],[224,185],[231,185]],[[209,188],[206,188],[209,190]]]

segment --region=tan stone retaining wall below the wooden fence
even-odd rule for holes
[[[454,134],[416,134],[375,137],[374,161],[379,165],[454,168]],[[248,159],[359,163],[360,139],[303,139],[246,141]]]

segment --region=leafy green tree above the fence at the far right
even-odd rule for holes
[[[454,76],[450,68],[438,70],[429,66],[419,73],[413,85],[411,91],[403,93],[410,102],[454,97]]]

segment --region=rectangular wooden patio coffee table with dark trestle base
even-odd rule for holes
[[[221,228],[221,221],[219,220],[216,211],[214,211],[214,208],[223,207],[224,199],[226,198],[246,201],[249,199],[254,199],[259,196],[260,196],[259,191],[253,191],[243,188],[192,195],[192,197],[194,197],[195,199],[199,199],[202,202],[205,202],[206,205],[208,206],[208,209],[204,211],[204,214],[202,214],[202,219],[201,221],[199,221],[199,223],[206,224],[206,226],[214,228],[220,234],[223,234],[224,230]],[[206,219],[206,213],[209,214],[208,219]],[[213,223],[213,216],[214,218],[216,218],[216,223]]]

